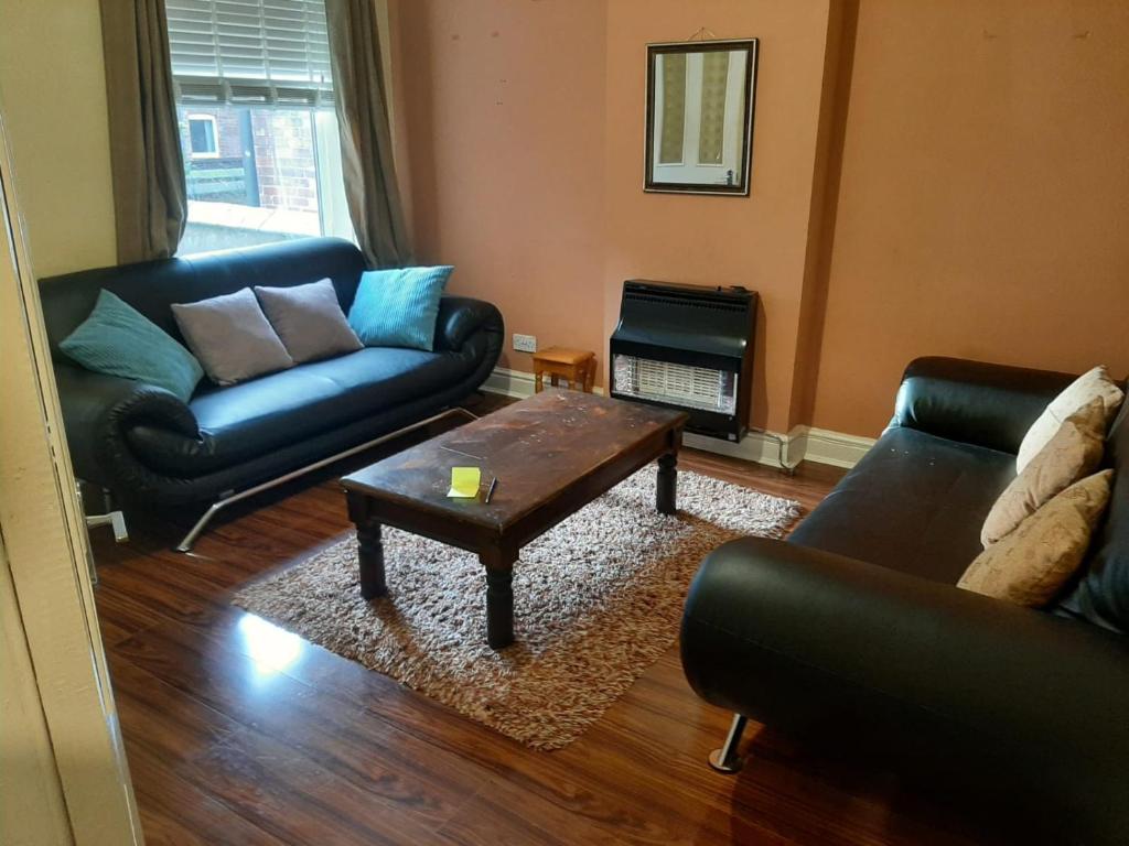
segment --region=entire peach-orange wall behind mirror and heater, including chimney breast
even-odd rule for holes
[[[702,26],[761,38],[747,200],[641,191],[646,44]],[[606,367],[624,279],[754,288],[777,431],[876,434],[917,355],[1129,371],[1129,6],[393,0],[393,28],[420,258],[510,332]]]

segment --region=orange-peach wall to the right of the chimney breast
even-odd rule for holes
[[[863,0],[814,425],[905,363],[1129,372],[1129,5]]]

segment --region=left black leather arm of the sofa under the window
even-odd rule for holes
[[[55,385],[75,472],[88,482],[107,484],[135,464],[123,434],[128,426],[145,423],[186,438],[200,434],[192,409],[155,385],[68,364],[55,367]],[[116,457],[117,466],[107,466],[115,462],[110,457]]]

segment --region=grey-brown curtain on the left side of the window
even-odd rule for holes
[[[102,0],[117,261],[167,258],[187,219],[165,0]]]

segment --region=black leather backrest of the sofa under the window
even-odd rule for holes
[[[50,276],[40,280],[40,299],[51,353],[58,358],[59,342],[89,316],[104,288],[183,341],[173,319],[174,302],[195,302],[254,285],[283,288],[329,277],[348,314],[364,271],[365,257],[356,245],[340,238],[303,238]]]

